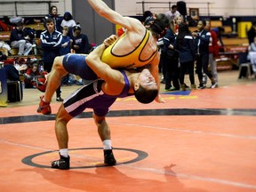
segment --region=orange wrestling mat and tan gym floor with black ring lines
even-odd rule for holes
[[[59,158],[60,102],[54,95],[52,115],[37,114],[42,92],[25,89],[21,102],[0,108],[1,191],[256,191],[256,80],[237,77],[223,71],[219,88],[186,92],[165,92],[162,84],[162,104],[116,100],[107,117],[115,166],[104,166],[92,110],[85,110],[68,124],[68,171],[50,166]],[[63,86],[63,98],[78,87]]]

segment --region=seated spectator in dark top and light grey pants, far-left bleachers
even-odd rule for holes
[[[19,48],[18,55],[28,55],[32,49],[32,44],[28,42],[28,36],[23,34],[23,23],[18,23],[16,28],[11,32],[11,46],[12,48]]]

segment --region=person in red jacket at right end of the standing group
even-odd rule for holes
[[[209,44],[209,63],[211,66],[213,79],[218,84],[217,64],[215,60],[216,57],[218,57],[219,55],[218,36],[211,29],[211,20],[205,20],[205,21],[206,21],[205,29],[210,31],[211,33],[210,44]]]

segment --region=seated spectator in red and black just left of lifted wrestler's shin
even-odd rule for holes
[[[25,88],[38,88],[38,86],[45,84],[47,72],[39,71],[38,65],[34,63],[32,68],[28,68],[24,73]],[[38,88],[39,89],[39,88]],[[40,90],[40,89],[39,89]],[[41,91],[41,90],[40,90]]]

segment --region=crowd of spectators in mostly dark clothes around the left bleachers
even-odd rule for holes
[[[10,42],[9,44],[1,42],[0,47],[6,49],[7,56],[12,55],[12,48],[18,49],[18,56],[21,57],[36,54],[35,49],[32,49],[36,47],[34,39],[36,37],[36,30],[25,28],[25,20],[22,17],[13,17],[11,21],[13,27],[10,28]],[[65,12],[62,19],[58,14],[57,6],[52,5],[49,14],[45,15],[44,19],[39,21],[44,21],[45,30],[40,34],[40,41],[37,44],[37,48],[39,47],[42,50],[41,53],[43,55],[43,63],[40,63],[37,67],[37,76],[47,75],[51,71],[55,57],[70,52],[87,54],[92,48],[91,44],[89,44],[88,37],[81,32],[82,28],[79,22],[73,20],[70,12]],[[43,70],[41,67],[43,67]],[[36,87],[35,82],[28,78],[31,70],[35,68],[35,65],[28,63],[28,70],[24,74],[25,88]],[[79,77],[68,74],[63,78],[62,84],[82,85],[83,82]],[[57,101],[63,100],[60,92],[59,88],[56,91]]]

